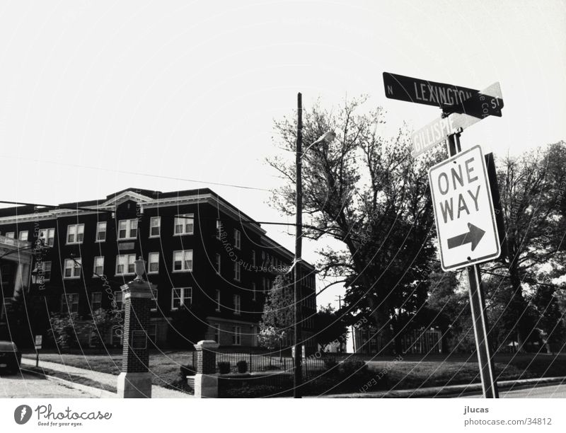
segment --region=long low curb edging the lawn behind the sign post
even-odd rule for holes
[[[566,383],[566,376],[561,377],[542,377],[539,379],[521,379],[517,381],[499,381],[497,385],[499,390],[509,388],[531,388],[533,385],[549,386],[554,383]],[[455,395],[473,395],[481,393],[481,383],[471,383],[469,385],[451,385],[436,386],[434,388],[413,388],[400,389],[398,391],[376,391],[369,393],[350,393],[350,394],[332,394],[328,396],[320,396],[324,398],[429,398],[429,397],[450,397]]]

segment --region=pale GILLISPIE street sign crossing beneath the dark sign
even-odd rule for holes
[[[499,83],[493,83],[477,95],[466,100],[463,103],[463,107],[460,106],[460,110],[464,112],[454,112],[448,117],[439,117],[437,120],[414,132],[411,136],[413,144],[412,156],[418,156],[432,149],[437,144],[443,143],[446,136],[454,134],[458,128],[466,129],[490,115],[501,116],[502,107],[501,88]],[[456,110],[456,108],[453,109]]]

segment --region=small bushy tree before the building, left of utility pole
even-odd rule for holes
[[[277,275],[265,297],[258,334],[260,345],[270,350],[278,345],[281,349],[282,340],[293,336],[294,318],[293,286],[288,277]]]

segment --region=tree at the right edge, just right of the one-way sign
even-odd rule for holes
[[[490,267],[509,277],[507,313],[514,321],[519,351],[532,336],[533,314],[525,282],[537,282],[542,267],[557,270],[565,262],[564,195],[566,147],[564,142],[544,146],[499,161],[497,181],[505,224],[504,253]],[[547,271],[548,272],[548,271]]]

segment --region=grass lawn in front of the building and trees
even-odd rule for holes
[[[24,354],[35,358],[35,354]],[[241,355],[233,354],[226,358],[235,364]],[[237,358],[237,359],[236,359]],[[389,387],[395,390],[428,386],[449,386],[456,384],[479,383],[480,376],[475,354],[455,354],[450,357],[433,354],[427,357],[407,354],[400,362],[393,362],[393,357],[364,357],[369,369],[378,374],[388,373]],[[83,369],[119,374],[122,362],[121,352],[110,354],[58,354],[40,353],[43,361],[57,362]],[[279,357],[273,357],[274,365]],[[152,353],[149,368],[155,385],[182,391],[185,381],[180,377],[179,367],[192,363],[192,352],[166,351]],[[290,366],[290,359],[287,368]],[[501,354],[495,357],[495,370],[499,380],[530,379],[551,376],[566,376],[566,354],[558,356],[547,354]]]

